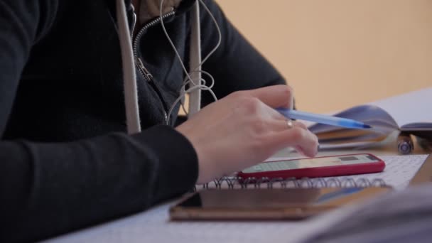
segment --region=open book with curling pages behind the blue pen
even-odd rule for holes
[[[372,129],[345,129],[313,124],[309,129],[324,148],[364,146],[384,141],[394,131],[432,140],[432,87],[345,109],[334,114],[362,121]]]

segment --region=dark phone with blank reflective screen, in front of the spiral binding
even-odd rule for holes
[[[170,210],[173,220],[301,219],[390,188],[202,190]]]

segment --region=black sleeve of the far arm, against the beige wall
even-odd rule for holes
[[[279,72],[237,31],[213,0],[205,1],[222,32],[222,43],[202,67],[215,77],[212,89],[218,98],[236,90],[251,90],[269,85],[286,84]],[[247,11],[247,10],[244,10]],[[203,7],[200,8],[202,58],[217,44],[215,23]],[[203,76],[204,77],[204,76]],[[209,80],[210,79],[206,79]],[[213,102],[208,92],[202,92],[203,105]]]

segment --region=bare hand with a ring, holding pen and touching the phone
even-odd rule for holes
[[[286,85],[234,92],[178,126],[198,154],[197,183],[241,171],[288,146],[315,156],[317,137],[297,121],[288,128],[286,118],[274,110],[290,107],[292,99]]]

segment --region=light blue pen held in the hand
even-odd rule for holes
[[[342,126],[350,129],[369,129],[372,126],[364,124],[360,121],[353,119],[347,119],[342,117],[332,117],[323,114],[313,114],[310,112],[300,112],[295,109],[276,108],[276,111],[283,114],[285,117],[290,119],[299,119],[305,121],[315,121],[322,124],[328,124],[332,126]]]

